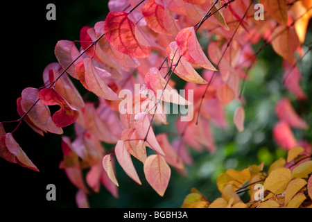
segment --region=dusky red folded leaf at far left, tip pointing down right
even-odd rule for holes
[[[33,164],[31,160],[29,160],[28,156],[26,155],[26,153],[24,153],[19,144],[17,144],[11,133],[6,133],[5,141],[8,151],[10,151],[12,155],[15,155],[15,160],[17,164],[21,165],[21,167],[27,167],[34,171],[39,171],[35,164]]]

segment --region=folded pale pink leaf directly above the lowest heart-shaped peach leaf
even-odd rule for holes
[[[148,119],[148,114],[145,112],[140,112],[135,115],[135,130],[137,130],[137,135],[140,139],[145,139],[146,137],[146,146],[152,148],[155,152],[165,155],[162,148],[159,146],[157,139],[155,137],[153,128],[150,127],[148,131],[148,127],[150,126],[150,120]]]

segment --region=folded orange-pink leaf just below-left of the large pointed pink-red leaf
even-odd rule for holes
[[[180,58],[181,54],[179,49],[177,48],[176,42],[171,42],[166,49],[166,53],[168,56],[169,63],[173,65],[171,69],[174,69],[175,74],[180,78],[186,80],[187,82],[191,83],[198,83],[198,84],[207,84],[206,80],[204,80],[198,72],[192,67],[191,63],[187,62],[183,57]],[[180,61],[177,64],[177,61]]]

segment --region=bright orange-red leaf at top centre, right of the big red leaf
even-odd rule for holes
[[[141,10],[146,24],[156,33],[176,35],[179,31],[173,17],[155,0],[147,1]]]

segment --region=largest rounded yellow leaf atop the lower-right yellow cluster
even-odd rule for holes
[[[288,182],[291,181],[291,170],[286,168],[276,168],[268,175],[263,183],[263,188],[268,189],[273,194],[281,194],[285,191]]]

